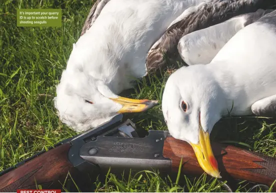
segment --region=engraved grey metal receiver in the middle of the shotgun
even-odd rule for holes
[[[166,136],[167,132],[153,130],[144,138],[98,136],[95,141],[85,143],[79,155],[100,169],[170,171],[171,160],[162,156],[164,140],[156,143],[156,139]],[[90,155],[88,150],[91,148],[97,148],[98,152]]]

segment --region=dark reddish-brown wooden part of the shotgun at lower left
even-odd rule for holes
[[[73,172],[73,165],[67,158],[69,148],[69,142],[61,144],[50,149],[48,153],[42,153],[27,161],[23,166],[3,174],[0,176],[0,192],[16,192],[16,189],[35,188],[35,184],[42,184],[43,188],[52,188],[59,183],[57,180],[63,177],[65,179],[68,171]],[[63,183],[64,180],[60,182]]]

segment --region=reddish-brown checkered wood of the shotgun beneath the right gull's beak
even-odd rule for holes
[[[257,154],[231,145],[212,143],[222,179],[235,179],[271,185],[276,179],[276,158]],[[184,141],[167,137],[164,141],[163,156],[170,158],[172,169],[178,170],[182,159],[182,171],[186,174],[202,174],[192,147]],[[276,188],[276,183],[273,186]]]

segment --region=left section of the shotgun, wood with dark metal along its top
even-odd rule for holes
[[[0,192],[16,192],[18,188],[32,189],[37,185],[44,189],[62,188],[64,180],[68,179],[68,173],[74,181],[79,181],[79,184],[85,183],[88,178],[86,174],[96,176],[98,167],[79,157],[80,147],[98,135],[117,133],[121,120],[122,115],[118,114],[96,128],[65,139],[50,147],[48,151],[40,151],[14,167],[0,172]],[[122,126],[125,127],[127,124],[133,123],[125,121]]]

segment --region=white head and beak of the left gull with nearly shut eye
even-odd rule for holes
[[[77,132],[109,121],[118,113],[142,112],[156,104],[117,96],[102,80],[76,69],[62,72],[54,98],[61,122]]]

